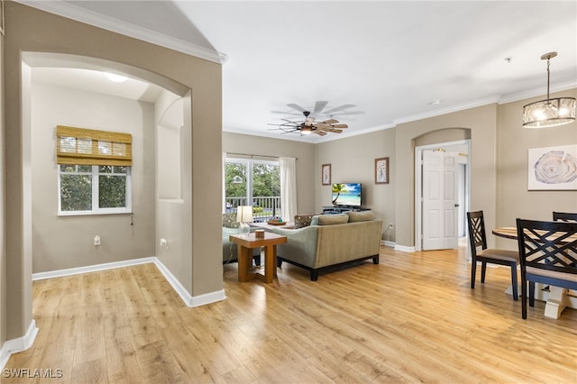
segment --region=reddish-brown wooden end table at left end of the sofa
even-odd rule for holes
[[[230,242],[238,245],[238,280],[251,281],[260,279],[265,283],[271,283],[277,270],[277,244],[287,242],[287,236],[265,232],[264,237],[257,238],[254,233],[231,234]],[[249,271],[252,269],[252,249],[264,249],[264,275]]]

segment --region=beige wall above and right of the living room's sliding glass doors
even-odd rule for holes
[[[316,212],[315,144],[270,139],[239,133],[223,133],[223,151],[297,158],[298,213],[307,214]],[[263,160],[270,159],[263,158]]]

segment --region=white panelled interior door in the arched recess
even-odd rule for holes
[[[458,246],[458,153],[423,151],[423,250]]]

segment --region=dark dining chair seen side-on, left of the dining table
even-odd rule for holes
[[[475,288],[477,273],[477,261],[481,261],[481,283],[485,283],[487,263],[506,265],[511,268],[511,285],[513,299],[518,298],[517,288],[517,265],[519,254],[517,251],[487,249],[487,235],[485,234],[485,220],[483,211],[467,212],[467,224],[469,226],[469,242],[471,242],[471,288]],[[481,247],[481,252],[477,248]]]

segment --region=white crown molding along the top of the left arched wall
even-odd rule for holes
[[[228,56],[216,50],[210,50],[190,41],[183,41],[181,39],[166,35],[164,33],[151,31],[132,23],[126,23],[114,17],[105,16],[96,12],[79,7],[78,5],[71,5],[62,1],[38,1],[38,0],[14,0],[17,3],[31,6],[32,8],[40,9],[41,11],[50,14],[57,14],[68,19],[76,20],[81,23],[96,26],[110,32],[116,32],[129,36],[141,41],[150,42],[152,44],[160,45],[161,47],[169,48],[171,50],[178,50],[179,52],[195,56],[200,59],[206,59],[217,64],[224,64],[228,60]]]

